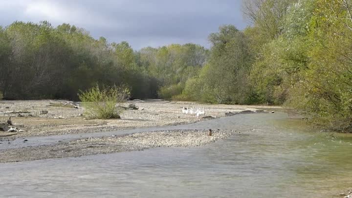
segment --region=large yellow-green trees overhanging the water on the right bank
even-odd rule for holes
[[[257,36],[263,19],[254,20],[245,31],[257,57],[250,79],[263,102],[294,107],[319,126],[352,132],[351,8],[350,0],[292,1],[279,20],[280,34],[269,40]]]

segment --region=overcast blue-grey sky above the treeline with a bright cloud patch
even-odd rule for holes
[[[0,25],[49,21],[83,27],[94,38],[145,46],[196,43],[222,24],[243,29],[242,0],[0,0]]]

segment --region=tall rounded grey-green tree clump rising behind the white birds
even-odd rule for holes
[[[233,25],[224,25],[209,40],[213,46],[208,64],[198,78],[189,78],[182,95],[210,103],[248,103],[248,73],[253,58],[246,36]]]

